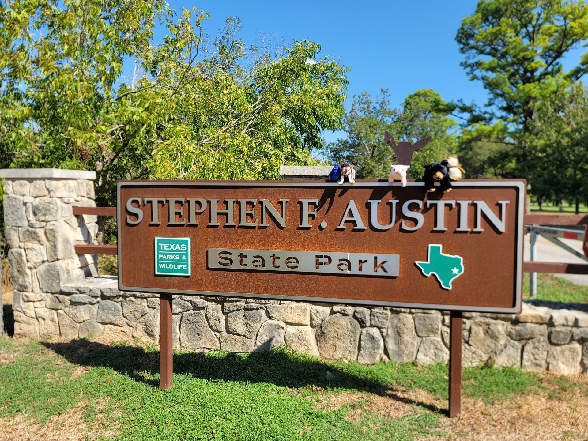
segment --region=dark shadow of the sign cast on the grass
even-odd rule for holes
[[[111,368],[132,379],[159,387],[159,350],[137,346],[109,346],[89,340],[72,340],[66,343],[42,343],[46,348],[63,356],[70,363],[84,366]],[[432,412],[446,413],[430,403],[411,400],[393,393],[393,385],[384,379],[362,375],[367,368],[347,372],[322,360],[293,352],[286,348],[272,349],[266,353],[240,355],[233,352],[183,352],[173,355],[173,372],[212,381],[273,383],[277,386],[299,389],[311,386],[355,389],[358,392],[375,393],[390,399],[425,407]],[[326,372],[332,379],[326,379]],[[402,385],[399,385],[402,386]]]

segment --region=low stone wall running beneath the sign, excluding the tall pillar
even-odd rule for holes
[[[112,276],[66,283],[32,302],[14,296],[15,319],[37,313],[39,335],[159,340],[159,299],[123,293]],[[586,305],[524,303],[520,315],[465,313],[463,365],[588,373]],[[554,309],[559,307],[561,309]],[[584,309],[582,309],[584,308]],[[263,352],[272,346],[328,359],[435,363],[449,358],[449,313],[416,309],[173,296],[173,345],[189,350]],[[47,317],[52,317],[48,326]],[[26,316],[27,320],[29,316]],[[19,326],[16,336],[29,335]]]

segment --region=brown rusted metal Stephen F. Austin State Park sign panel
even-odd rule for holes
[[[119,288],[518,312],[525,189],[119,181]]]

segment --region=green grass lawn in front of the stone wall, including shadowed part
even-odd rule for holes
[[[160,391],[159,350],[153,345],[0,338],[0,426],[21,419],[25,428],[41,425],[35,427],[42,432],[59,424],[59,415],[73,412],[83,439],[323,441],[447,435],[443,364],[365,366],[280,348],[249,355],[179,352],[174,370],[172,389]],[[327,371],[333,379],[326,379]],[[553,383],[550,390],[581,386],[565,377],[557,381],[561,384]],[[463,387],[465,397],[485,403],[546,389],[536,373],[492,366],[464,369]],[[410,399],[417,390],[432,399]],[[368,405],[374,399],[406,410],[387,416]]]

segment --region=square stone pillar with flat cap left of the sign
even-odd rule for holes
[[[74,206],[96,206],[96,172],[2,169],[8,261],[14,282],[14,335],[59,335],[56,309],[64,283],[97,274],[96,257],[76,255],[95,243],[96,216],[74,216]]]

